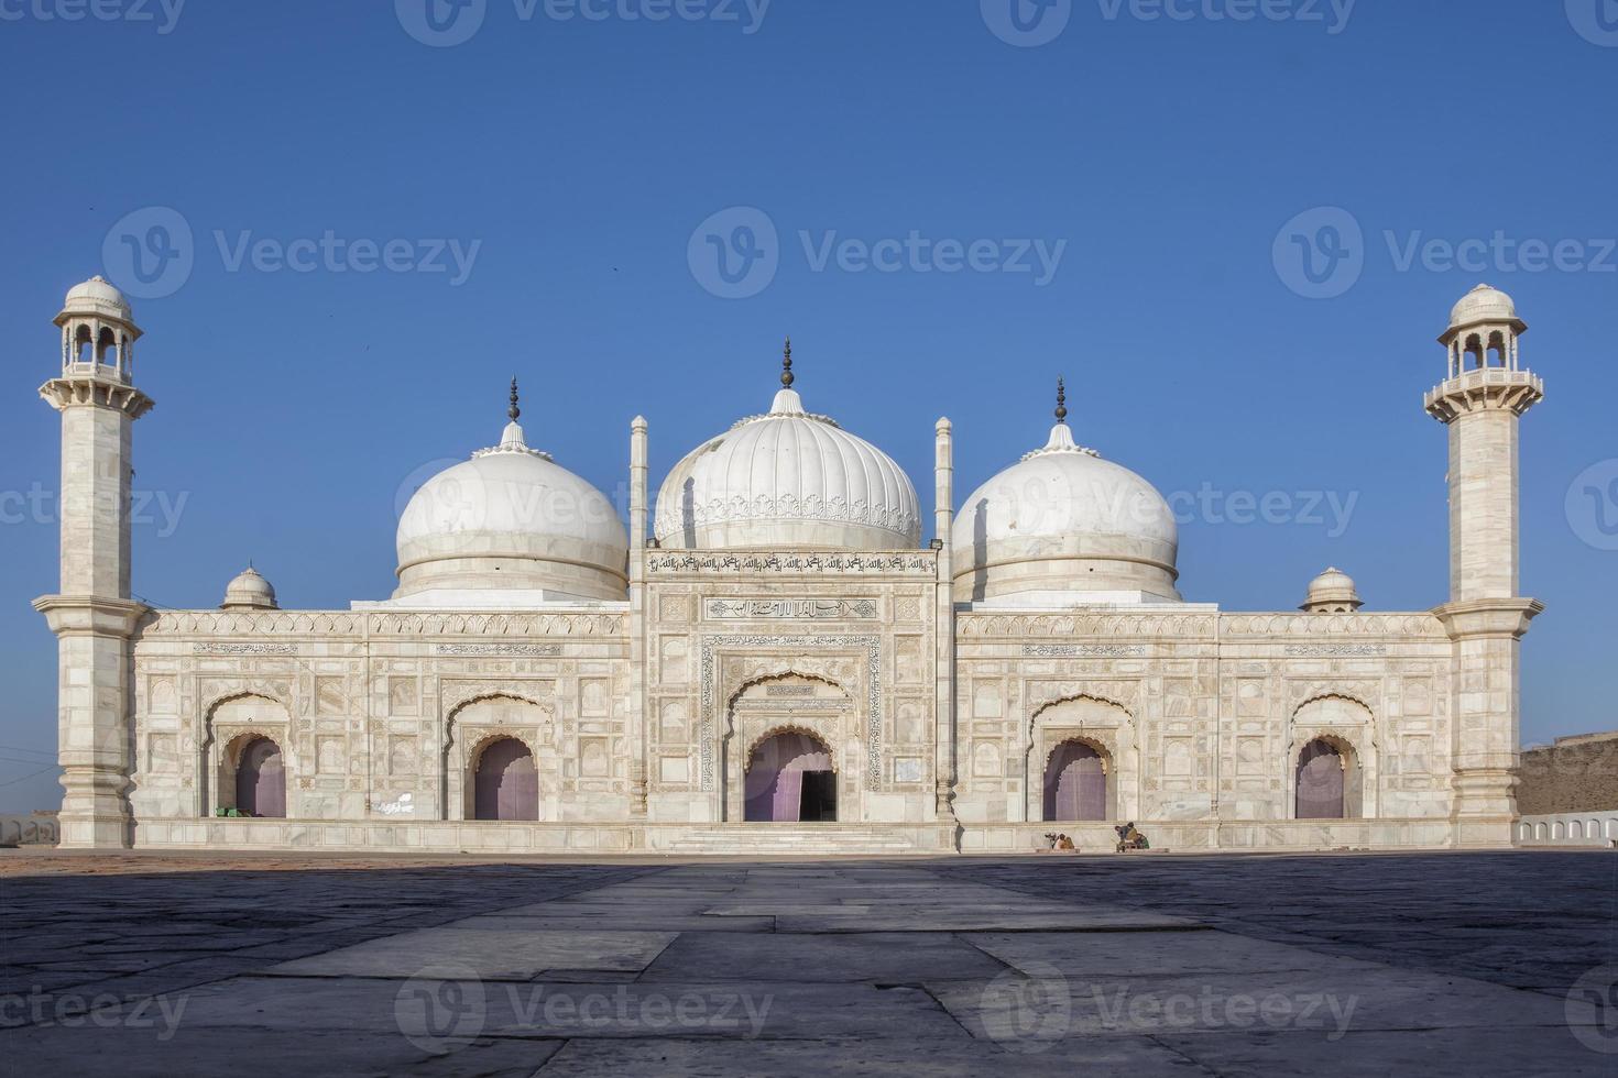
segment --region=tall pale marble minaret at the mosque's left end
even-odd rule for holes
[[[61,412],[61,585],[34,609],[57,634],[61,845],[120,849],[131,842],[129,637],[147,609],[129,600],[129,427],[152,399],[134,388],[141,330],[116,288],[76,286],[57,325],[61,375],[39,394]]]

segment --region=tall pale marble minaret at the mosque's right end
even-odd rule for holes
[[[1455,642],[1458,845],[1511,842],[1519,640],[1544,609],[1518,595],[1518,419],[1545,396],[1519,362],[1526,331],[1511,297],[1479,284],[1438,338],[1448,377],[1427,394],[1427,414],[1450,428],[1450,601],[1435,613]]]

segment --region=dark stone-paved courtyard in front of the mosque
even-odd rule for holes
[[[1602,852],[5,852],[0,1068],[1613,1078],[1615,903]]]

